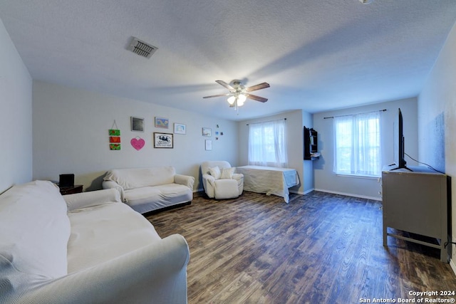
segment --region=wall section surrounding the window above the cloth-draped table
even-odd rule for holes
[[[304,193],[304,172],[303,172],[303,159],[304,159],[304,146],[303,146],[303,133],[302,133],[302,111],[295,110],[291,112],[284,112],[278,115],[261,117],[253,120],[244,120],[238,122],[239,127],[239,165],[245,166],[249,164],[249,126],[247,124],[254,122],[265,122],[269,120],[279,120],[286,118],[286,130],[288,133],[288,145],[286,147],[288,152],[289,167],[296,169],[298,172],[300,185],[291,187],[291,192]]]

